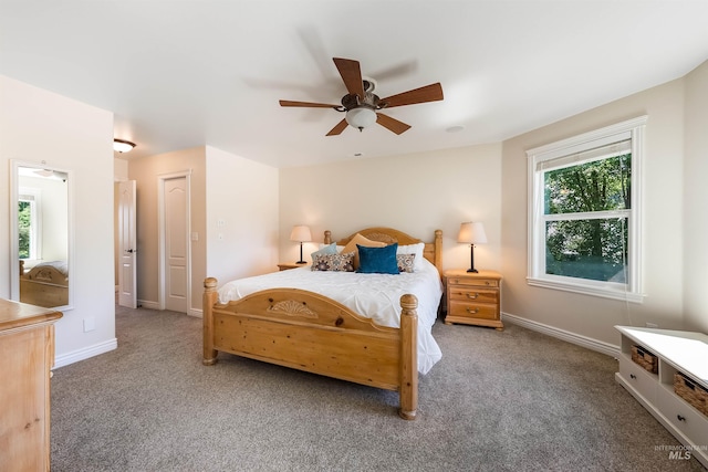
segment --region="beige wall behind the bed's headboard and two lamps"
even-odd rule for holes
[[[364,132],[366,133],[366,132]],[[501,145],[481,145],[394,157],[337,161],[280,170],[280,259],[294,262],[294,224],[308,224],[317,249],[324,230],[335,239],[367,227],[391,227],[431,241],[444,232],[446,268],[469,268],[469,245],[457,243],[464,221],[485,223],[489,244],[475,265],[500,269]]]

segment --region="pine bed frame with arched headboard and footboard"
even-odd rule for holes
[[[357,233],[399,245],[423,241],[389,228]],[[345,245],[355,234],[337,241]],[[331,232],[325,231],[325,243]],[[425,244],[424,256],[442,266],[442,231]],[[218,303],[217,280],[205,280],[204,365],[230,353],[313,374],[399,392],[399,416],[418,408],[418,301],[400,297],[400,327],[376,325],[341,303],[298,289],[272,289],[228,304]]]

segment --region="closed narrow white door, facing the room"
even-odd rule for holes
[[[187,178],[165,180],[165,308],[187,313]]]

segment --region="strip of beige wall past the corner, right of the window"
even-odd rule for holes
[[[708,61],[686,76],[684,161],[684,314],[708,333]]]

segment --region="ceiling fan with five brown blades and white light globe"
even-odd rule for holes
[[[333,59],[336,69],[340,71],[342,81],[346,86],[347,94],[342,97],[341,105],[330,105],[325,103],[311,102],[292,102],[287,99],[280,101],[280,106],[298,106],[313,108],[334,108],[337,112],[345,112],[346,116],[334,128],[327,133],[327,136],[341,134],[347,126],[357,128],[360,132],[365,127],[378,123],[383,127],[399,135],[410,128],[403,122],[392,118],[381,113],[381,109],[393,108],[394,106],[414,105],[417,103],[436,102],[442,99],[442,87],[440,83],[426,85],[386,98],[379,98],[374,94],[376,81],[362,76],[362,70],[358,61],[352,59]]]

